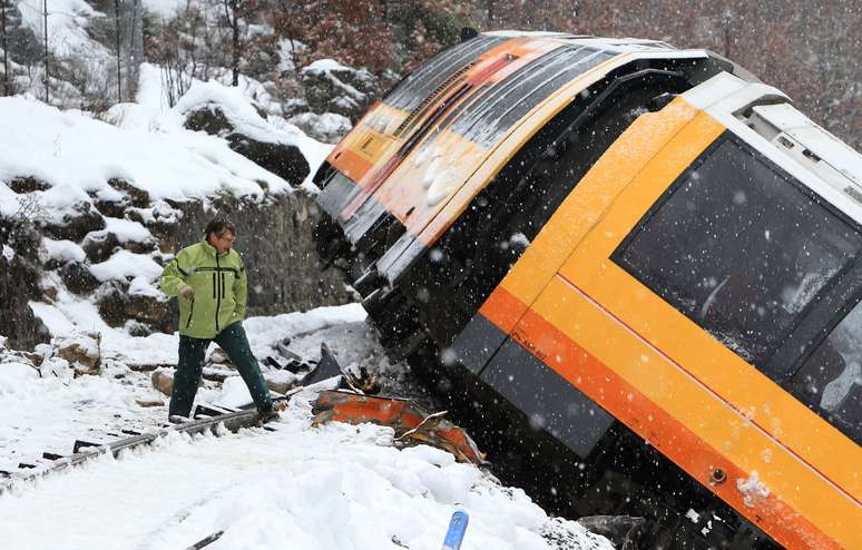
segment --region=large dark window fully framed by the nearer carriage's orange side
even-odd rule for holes
[[[613,259],[765,370],[862,237],[736,139],[718,141]]]

